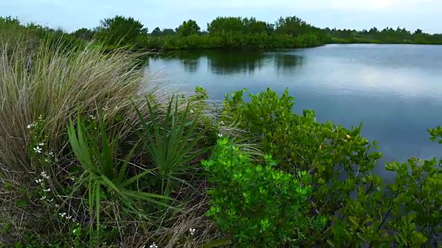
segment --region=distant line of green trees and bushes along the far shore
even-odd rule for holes
[[[19,23],[10,17],[1,21]],[[298,17],[280,17],[275,23],[253,17],[217,17],[207,23],[206,30],[188,20],[177,28],[157,27],[151,32],[140,21],[122,16],[104,19],[97,28],[80,28],[71,33],[32,23],[21,26],[39,30],[39,35],[55,34],[75,43],[95,39],[106,43],[109,50],[121,47],[134,50],[309,48],[327,43],[442,44],[442,34],[427,34],[420,29],[414,32],[405,28],[321,29]]]

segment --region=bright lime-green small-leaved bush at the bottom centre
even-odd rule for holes
[[[307,214],[311,186],[306,172],[298,172],[297,180],[275,169],[270,156],[263,165],[255,165],[227,138],[218,140],[213,158],[202,164],[213,183],[206,214],[239,247],[301,244],[310,229],[325,225],[323,216]]]

